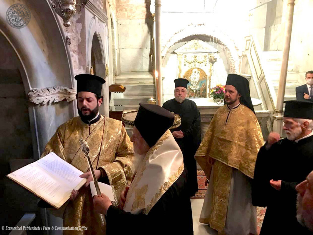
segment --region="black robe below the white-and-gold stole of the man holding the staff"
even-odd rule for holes
[[[106,234],[193,234],[191,204],[186,183],[184,170],[148,215],[133,215],[110,206],[105,216]]]

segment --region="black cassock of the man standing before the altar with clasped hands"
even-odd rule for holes
[[[179,114],[181,125],[173,131],[182,131],[184,138],[175,138],[182,150],[184,164],[187,168],[189,195],[193,196],[198,191],[197,163],[194,155],[201,143],[201,118],[195,102],[185,99],[179,103],[174,99],[168,100],[162,106],[170,112]]]

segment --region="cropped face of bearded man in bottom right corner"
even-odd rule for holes
[[[313,171],[295,186],[297,195],[297,220],[313,234]]]

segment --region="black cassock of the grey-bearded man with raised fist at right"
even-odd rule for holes
[[[252,204],[267,206],[260,235],[312,234],[296,219],[295,186],[313,170],[313,136],[298,143],[287,138],[260,149],[254,170]],[[269,181],[282,180],[281,190]]]

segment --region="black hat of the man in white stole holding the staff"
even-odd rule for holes
[[[150,147],[170,128],[175,116],[165,108],[154,104],[139,104],[135,127]]]

